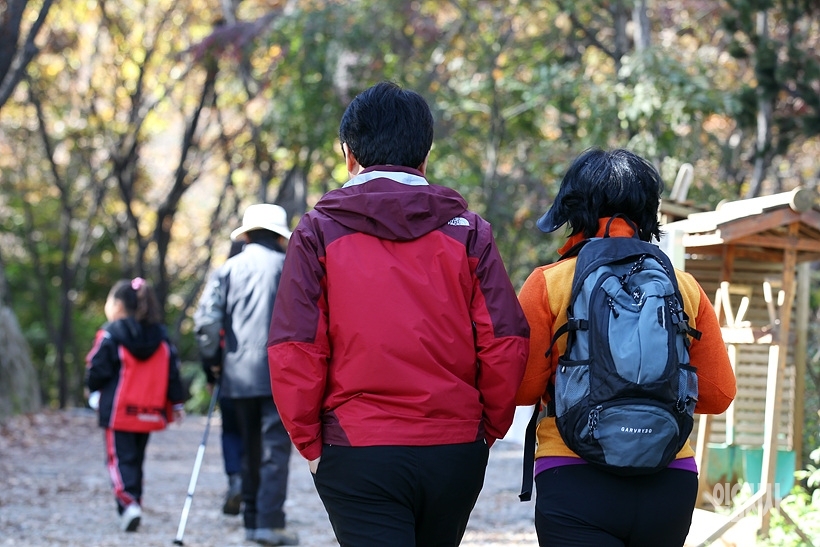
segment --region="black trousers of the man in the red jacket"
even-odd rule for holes
[[[484,485],[484,441],[331,446],[313,482],[341,547],[454,547]]]

